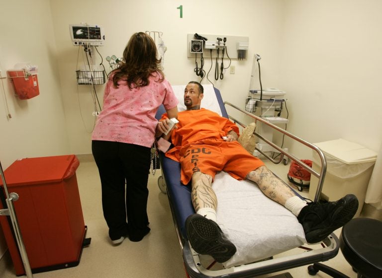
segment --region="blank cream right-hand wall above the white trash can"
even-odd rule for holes
[[[288,129],[310,142],[382,141],[382,1],[286,0],[280,84]],[[292,149],[305,156],[302,148]]]

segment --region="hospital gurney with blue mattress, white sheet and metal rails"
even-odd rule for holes
[[[269,125],[285,136],[316,151],[321,158],[320,173],[301,162],[298,157],[254,132],[255,136],[263,139],[281,153],[279,159],[275,161],[259,150],[269,160],[280,163],[285,155],[319,179],[314,201],[319,200],[326,172],[326,160],[319,148],[233,104],[224,103],[219,90],[211,85],[203,85],[203,87],[204,98],[201,107],[230,118],[244,128],[244,124],[228,116],[226,107],[229,107],[236,114],[237,111],[244,113],[251,117],[252,121]],[[173,88],[180,99],[178,109],[186,110],[183,103],[185,86],[173,86]],[[160,108],[157,119],[160,119],[164,112],[163,107]],[[162,176],[159,177],[158,184],[161,190],[167,193],[169,199],[188,277],[250,278],[327,261],[337,255],[339,241],[334,233],[320,244],[306,244],[302,226],[291,212],[267,198],[256,184],[246,180],[237,181],[227,173],[219,172],[212,184],[218,200],[217,223],[228,239],[235,244],[237,252],[221,266],[214,265],[211,257],[194,252],[187,239],[185,221],[189,215],[195,213],[191,204],[191,183],[181,184],[179,162],[167,158],[164,153],[160,153],[159,156]]]

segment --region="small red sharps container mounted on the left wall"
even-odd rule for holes
[[[7,72],[14,93],[19,99],[29,99],[40,94],[37,74],[28,75],[24,70],[8,70]]]

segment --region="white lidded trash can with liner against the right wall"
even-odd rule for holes
[[[315,145],[323,151],[327,163],[321,199],[336,201],[346,194],[354,194],[359,201],[355,216],[359,216],[365,202],[377,152],[344,139],[315,143]],[[312,168],[318,173],[321,169],[321,160],[315,151]],[[317,185],[318,178],[311,175],[309,187],[311,200],[315,197]]]

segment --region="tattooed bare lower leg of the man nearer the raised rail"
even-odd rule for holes
[[[283,206],[286,200],[295,196],[294,192],[266,166],[249,172],[246,178],[257,183],[265,196]]]

